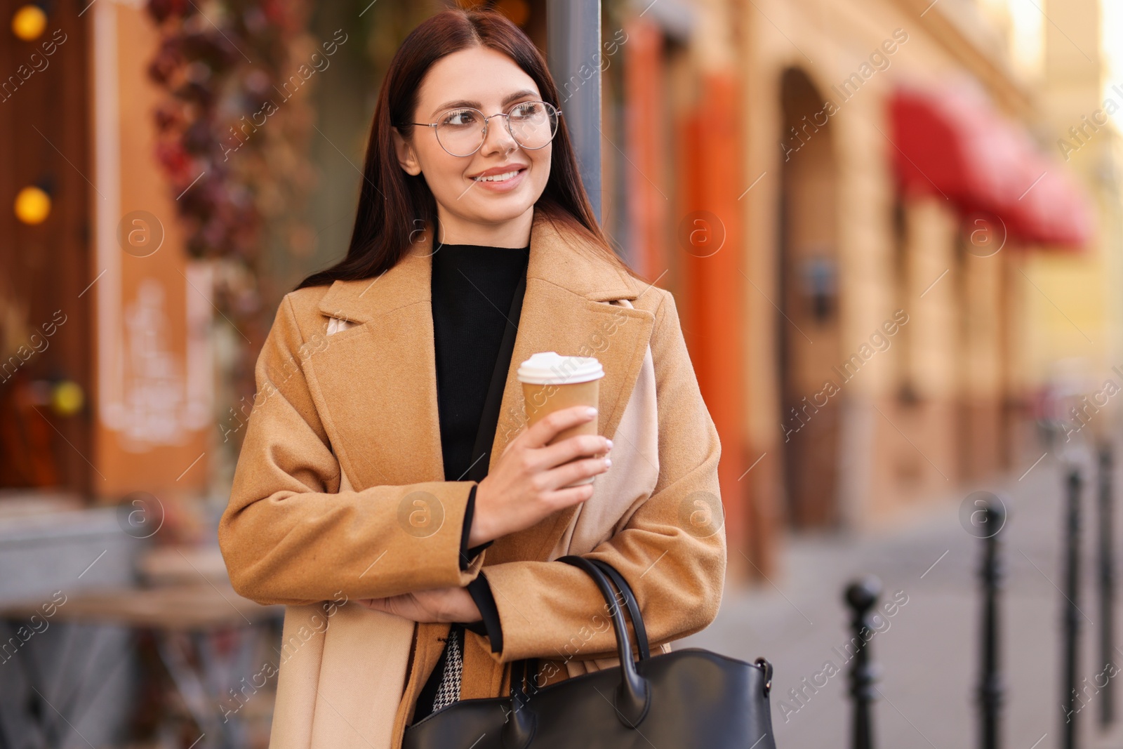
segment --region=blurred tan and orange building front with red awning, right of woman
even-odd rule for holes
[[[1029,467],[1050,363],[1106,372],[1119,193],[1106,157],[1053,150],[1104,103],[1097,8],[1046,10],[1037,76],[1002,3],[624,13],[642,125],[614,130],[605,222],[682,300],[749,574],[785,528],[893,522]]]

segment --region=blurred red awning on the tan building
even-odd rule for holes
[[[1028,244],[1079,248],[1092,238],[1092,203],[1083,190],[982,92],[900,88],[889,117],[906,194],[943,195],[965,214],[994,214]]]

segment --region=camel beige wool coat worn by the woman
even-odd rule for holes
[[[526,427],[515,369],[549,350],[602,363],[613,465],[584,505],[496,539],[460,570],[473,482],[442,481],[430,237],[377,278],[287,294],[257,362],[219,542],[239,594],[289,606],[273,749],[401,743],[449,625],[347,600],[463,586],[484,567],[503,651],[465,633],[460,698],[503,694],[519,658],[542,659],[539,683],[618,663],[600,592],[551,561],[564,554],[620,570],[652,647],[718,612],[721,447],[674,298],[578,250],[584,240],[541,212],[490,465]]]

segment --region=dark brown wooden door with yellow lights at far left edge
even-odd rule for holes
[[[83,6],[47,3],[42,33],[24,39],[12,19],[27,3],[0,0],[0,488],[89,488],[93,174]],[[45,216],[35,190],[49,198]]]

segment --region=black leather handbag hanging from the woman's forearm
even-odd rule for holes
[[[511,664],[511,696],[462,700],[409,725],[403,749],[776,749],[773,667],[701,648],[651,657],[631,587],[611,565],[579,556],[558,561],[596,582],[612,613],[620,666],[528,689],[528,661]],[[611,584],[610,584],[611,579]],[[639,660],[612,585],[636,632]],[[530,659],[537,663],[537,659]]]

